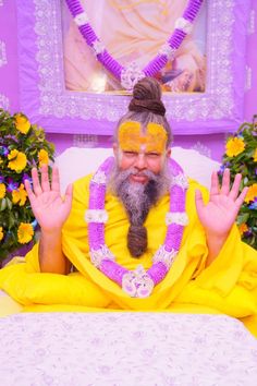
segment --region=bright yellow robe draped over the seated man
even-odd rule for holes
[[[137,299],[130,298],[90,263],[87,224],[84,219],[89,179],[90,176],[74,183],[72,212],[63,227],[64,254],[78,272],[68,276],[40,273],[37,244],[24,262],[14,258],[0,270],[0,289],[20,309],[22,305],[22,311],[224,313],[242,319],[257,336],[257,251],[241,241],[237,227],[234,226],[216,261],[205,268],[208,249],[194,198],[195,189],[200,189],[205,200],[208,200],[208,192],[203,186],[189,181],[186,193],[189,221],[170,272],[149,298]],[[105,231],[106,243],[117,262],[128,269],[136,268],[138,264],[149,268],[152,255],[164,241],[169,195],[163,196],[148,214],[145,222],[148,249],[139,260],[133,258],[126,248],[128,221],[115,196],[107,195],[106,209],[109,215]],[[7,314],[7,305],[5,310]]]

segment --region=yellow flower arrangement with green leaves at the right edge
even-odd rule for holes
[[[242,240],[257,249],[257,114],[253,123],[243,123],[233,136],[229,136],[222,158],[220,178],[230,168],[232,181],[242,173],[241,191],[248,186],[236,222]]]

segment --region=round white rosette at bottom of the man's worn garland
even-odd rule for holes
[[[151,293],[155,284],[142,265],[135,270],[124,274],[122,289],[132,298],[147,298]]]

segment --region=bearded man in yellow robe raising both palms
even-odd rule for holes
[[[230,188],[227,169],[208,194],[172,160],[171,142],[160,86],[146,77],[118,123],[114,158],[94,176],[63,198],[56,167],[51,183],[46,166],[40,179],[33,169],[25,185],[40,240],[0,272],[14,305],[225,313],[257,334],[257,253],[234,225],[247,189],[240,174]]]

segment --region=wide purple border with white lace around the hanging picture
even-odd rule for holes
[[[128,95],[71,92],[62,59],[63,0],[17,2],[21,110],[46,132],[111,135]],[[174,135],[233,132],[244,117],[250,1],[207,1],[204,93],[164,93]]]

